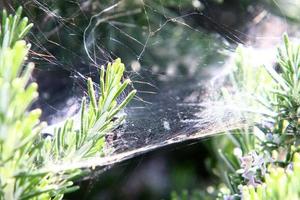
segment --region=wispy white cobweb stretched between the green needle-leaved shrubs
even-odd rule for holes
[[[234,106],[209,103],[216,100],[214,90],[221,84],[216,80],[233,65],[237,44],[268,52],[266,47],[286,31],[286,22],[271,18],[259,6],[251,6],[246,16],[229,17],[233,21],[228,22],[214,15],[221,7],[207,1],[170,1],[167,7],[163,0],[103,4],[68,0],[62,10],[55,1],[22,2],[26,15],[39,22],[30,40],[32,57],[39,63],[37,77],[42,77],[38,80],[47,90],[40,89],[36,105],[42,106],[43,118],[52,124],[45,132],[76,115],[86,94],[86,78],[97,82],[98,67],[116,57],[123,58],[131,87],[138,90],[124,110],[126,122],[107,140],[112,152],[56,170],[106,167],[164,146],[245,126],[245,118]],[[234,13],[236,8],[232,9]],[[272,36],[264,33],[270,19],[283,27]],[[46,78],[47,73],[52,76]],[[49,92],[47,87],[56,81],[59,90]]]

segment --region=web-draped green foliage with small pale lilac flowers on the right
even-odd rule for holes
[[[231,195],[223,197],[283,199],[289,195],[288,199],[297,199],[300,46],[285,35],[284,47],[278,48],[276,69],[249,65],[251,57],[243,52],[237,50],[237,68],[231,74],[234,89],[223,89],[223,95],[235,103],[243,102],[241,110],[248,106],[243,112],[255,115],[246,114],[250,128],[230,136],[235,145],[226,150],[229,156],[220,154],[228,165],[224,178],[231,190]]]

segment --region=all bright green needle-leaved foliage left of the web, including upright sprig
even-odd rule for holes
[[[83,98],[78,129],[68,120],[53,137],[43,139],[41,110],[30,110],[38,97],[37,84],[30,82],[33,63],[26,63],[30,45],[23,39],[31,28],[27,18],[2,12],[0,32],[0,199],[61,199],[77,189],[73,180],[89,169],[55,172],[47,166],[76,162],[103,155],[104,136],[124,116],[115,116],[133,98],[131,91],[120,103],[118,97],[130,80],[122,81],[125,66],[117,59],[101,67],[101,94],[96,97],[88,79],[88,97]],[[24,66],[24,67],[23,67]]]

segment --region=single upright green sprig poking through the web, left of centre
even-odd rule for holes
[[[104,136],[107,132],[118,126],[125,116],[119,113],[134,97],[136,90],[132,90],[127,97],[117,103],[118,97],[124,92],[130,80],[121,82],[125,66],[117,59],[106,67],[101,67],[100,85],[101,95],[96,97],[92,80],[88,79],[88,94],[90,103],[87,105],[86,98],[81,104],[80,128],[74,128],[74,120],[67,120],[63,127],[57,129],[54,138],[48,140],[43,149],[46,154],[41,155],[56,162],[78,161],[93,156],[100,156],[104,148]]]

